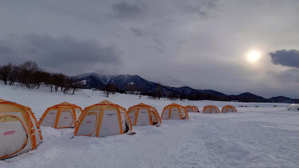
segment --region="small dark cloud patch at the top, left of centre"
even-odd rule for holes
[[[115,12],[112,16],[120,20],[139,20],[144,17],[144,10],[146,10],[146,8],[147,5],[141,2],[128,4],[121,1],[120,3],[112,5],[112,9]]]

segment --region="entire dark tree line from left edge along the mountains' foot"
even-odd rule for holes
[[[79,89],[101,90],[108,97],[111,93],[135,94],[139,98],[147,96],[150,99],[160,100],[161,97],[169,100],[216,100],[216,101],[242,101],[244,97],[217,96],[206,93],[181,94],[176,92],[165,93],[160,82],[156,88],[146,90],[145,88],[137,88],[135,84],[126,83],[119,88],[115,83],[109,83],[105,86],[99,86],[95,81],[76,81],[72,77],[68,77],[62,73],[51,73],[40,68],[34,61],[26,61],[19,65],[8,63],[0,66],[0,80],[5,85],[21,85],[30,89],[38,89],[41,86],[51,88],[51,92],[61,91],[63,93],[74,94]]]

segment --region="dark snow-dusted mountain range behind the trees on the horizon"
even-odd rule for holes
[[[109,83],[114,83],[118,86],[119,90],[123,90],[127,87],[134,87],[135,91],[147,91],[154,92],[157,88],[158,83],[150,82],[138,75],[117,75],[117,74],[98,74],[95,72],[83,73],[72,77],[76,82],[83,81],[87,88],[97,88],[104,89]],[[261,96],[254,95],[252,93],[246,92],[239,95],[226,95],[224,93],[206,89],[193,89],[188,86],[183,87],[170,87],[161,85],[162,95],[169,95],[171,93],[181,95],[181,94],[206,94],[215,97],[226,97],[229,100],[273,100],[273,99],[291,99],[289,97],[278,96],[266,99]],[[294,103],[293,100],[279,100],[279,103]]]

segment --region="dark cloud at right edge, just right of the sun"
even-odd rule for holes
[[[299,68],[299,50],[277,50],[268,55],[274,65]]]

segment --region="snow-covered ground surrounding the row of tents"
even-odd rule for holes
[[[107,98],[99,91],[92,94],[91,90],[80,90],[69,95],[51,93],[49,88],[30,90],[3,84],[0,98],[31,107],[36,118],[63,101],[84,108],[107,99],[126,109],[142,102],[156,107],[160,115],[164,106],[173,103],[128,94],[111,94]],[[195,105],[201,111],[210,104],[220,110],[230,104],[238,113],[189,113],[188,121],[162,120],[160,127],[134,126],[137,134],[133,136],[106,138],[70,139],[74,129],[42,127],[44,143],[14,157],[22,158],[18,161],[0,161],[0,167],[299,167],[299,111],[287,111],[288,104],[208,100],[176,103]]]

